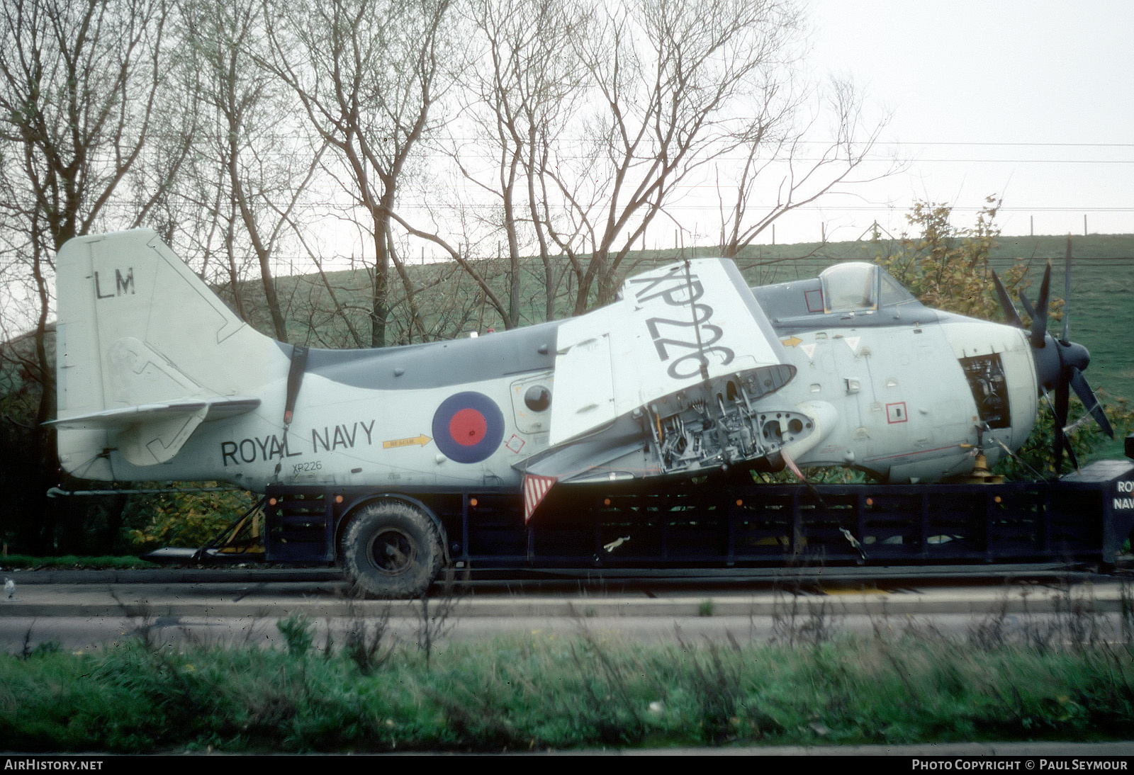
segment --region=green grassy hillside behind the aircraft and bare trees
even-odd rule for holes
[[[898,249],[896,241],[804,242],[796,245],[756,246],[738,259],[744,275],[753,284],[784,282],[815,276],[824,267],[841,261],[873,261],[878,255]],[[1022,259],[1029,265],[1030,296],[1034,300],[1043,275],[1043,267],[1052,262],[1051,293],[1063,297],[1064,250],[1066,237],[1000,237],[992,254],[992,265],[998,271]],[[1111,397],[1134,398],[1134,342],[1128,333],[1134,321],[1134,235],[1090,235],[1074,237],[1072,242],[1072,339],[1091,351],[1088,377],[1095,389]],[[709,248],[697,248],[697,256],[712,255]],[[626,272],[640,271],[649,265],[674,261],[672,250],[632,254]],[[499,262],[481,262],[480,271],[491,278],[492,284],[503,296],[507,269]],[[471,330],[484,331],[501,327],[500,318],[488,305],[475,283],[451,264],[411,266],[415,284],[421,288],[416,303],[429,327],[429,338],[447,339]],[[525,323],[543,320],[543,270],[536,261],[525,262],[522,298],[525,299]],[[293,339],[315,347],[357,347],[369,343],[370,327],[366,318],[370,278],[362,270],[328,273],[325,282],[318,274],[280,278],[278,287],[287,305],[289,331]],[[560,288],[566,291],[567,279]],[[346,315],[333,313],[330,286]],[[255,284],[247,288],[249,305],[263,312],[262,301],[255,304]],[[566,298],[566,293],[564,293]],[[391,341],[406,339],[404,299],[396,297],[391,316]],[[1019,305],[1017,305],[1018,307]],[[567,303],[560,300],[559,316],[566,315]],[[354,327],[357,338],[347,325]],[[270,331],[266,316],[254,323],[262,331]],[[1056,330],[1053,324],[1052,330]],[[420,341],[420,334],[414,338]]]

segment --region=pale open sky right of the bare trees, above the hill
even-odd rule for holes
[[[916,198],[1005,235],[1134,232],[1134,2],[810,0],[811,63],[849,74],[908,170],[778,223],[777,241],[899,232]],[[896,144],[891,146],[890,144]],[[833,233],[832,233],[833,232]],[[770,238],[765,241],[770,241]]]

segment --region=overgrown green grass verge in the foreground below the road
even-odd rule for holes
[[[1128,597],[1124,595],[1128,603]],[[544,751],[1128,740],[1131,607],[1110,623],[989,616],[962,636],[911,620],[840,632],[786,604],[771,640],[627,641],[583,624],[490,642],[335,642],[291,616],[256,644],[44,644],[0,655],[0,748],[37,752]],[[435,613],[435,610],[433,610]],[[456,615],[456,614],[454,614]],[[418,628],[433,627],[422,612]],[[269,644],[276,644],[274,647]]]

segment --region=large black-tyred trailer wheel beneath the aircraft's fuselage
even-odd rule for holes
[[[429,517],[398,501],[362,506],[342,537],[349,579],[367,596],[417,597],[441,568],[441,539]]]

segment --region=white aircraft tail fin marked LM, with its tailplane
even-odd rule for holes
[[[287,357],[150,230],[78,237],[56,263],[59,461],[113,479],[171,460],[201,423],[259,406]],[[166,478],[154,476],[154,478]]]

